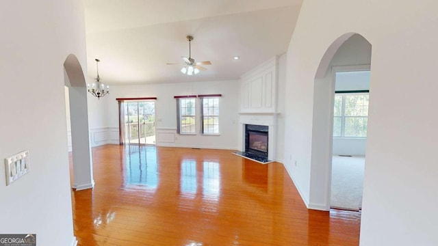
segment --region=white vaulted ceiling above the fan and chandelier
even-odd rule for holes
[[[302,0],[85,0],[88,77],[103,83],[238,79],[287,51]],[[188,76],[188,57],[211,61]],[[239,55],[239,60],[233,56]],[[179,63],[181,65],[166,65]]]

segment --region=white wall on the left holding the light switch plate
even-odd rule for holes
[[[44,14],[43,14],[44,13]],[[38,245],[73,245],[64,60],[86,67],[81,1],[1,1],[0,159],[29,150],[29,172],[5,186],[0,232],[36,233]]]

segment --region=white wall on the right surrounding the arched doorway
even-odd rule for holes
[[[438,214],[430,213],[438,203],[438,165],[428,154],[438,138],[438,115],[431,113],[438,106],[438,33],[431,31],[437,9],[432,0],[306,0],[289,45],[285,156],[292,161],[285,159],[285,167],[308,205],[310,199],[324,202],[317,190],[325,189],[330,171],[311,163],[318,68],[346,33],[360,33],[372,44],[361,245],[438,244]],[[318,175],[322,183],[311,182]]]

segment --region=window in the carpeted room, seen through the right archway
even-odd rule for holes
[[[333,137],[367,137],[368,93],[336,94]]]

